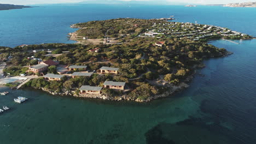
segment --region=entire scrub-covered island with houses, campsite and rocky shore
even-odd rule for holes
[[[228,28],[168,19],[112,19],[71,26],[76,44],[0,47],[7,83],[54,95],[146,102],[183,88],[203,59],[230,55],[211,39],[251,39]],[[19,76],[21,75],[21,76]],[[11,78],[8,78],[11,79]],[[0,81],[1,82],[1,81]]]

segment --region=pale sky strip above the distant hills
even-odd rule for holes
[[[2,4],[50,4],[50,3],[77,3],[86,0],[0,0]],[[87,0],[89,1],[89,0]],[[97,0],[90,0],[90,1],[97,1]],[[106,0],[106,1],[113,1],[113,0]],[[130,1],[130,0],[120,0],[120,1]],[[147,1],[150,2],[158,2],[159,0],[133,0],[133,1]],[[242,2],[249,2],[248,0],[160,0],[160,1],[167,1],[167,4],[172,3],[191,3],[191,4],[228,4],[228,3],[242,3]],[[253,0],[252,0],[253,1]],[[255,1],[255,0],[254,0]]]

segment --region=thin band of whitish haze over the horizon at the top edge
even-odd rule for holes
[[[21,4],[21,5],[28,5],[28,4],[58,4],[58,3],[79,3],[79,2],[90,2],[90,3],[108,3],[108,2],[115,2],[115,1],[123,1],[123,2],[130,2],[130,0],[0,0],[2,4]],[[146,2],[146,4],[228,4],[228,3],[243,3],[243,2],[250,2],[250,1],[239,1],[239,0],[199,0],[199,1],[192,1],[192,0],[133,0],[133,2],[139,2],[140,4]],[[110,3],[111,4],[111,3]]]

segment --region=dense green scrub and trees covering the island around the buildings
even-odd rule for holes
[[[42,44],[24,47],[0,47],[1,58],[7,61],[9,67],[5,73],[13,75],[23,73],[28,64],[36,64],[37,60],[28,57],[37,57],[44,60],[53,59],[64,65],[88,65],[90,71],[98,70],[102,66],[119,68],[118,75],[97,75],[91,77],[79,77],[62,81],[45,81],[42,78],[34,79],[26,84],[27,87],[51,89],[52,91],[75,90],[82,85],[102,86],[106,80],[127,82],[128,92],[114,92],[103,89],[104,94],[124,95],[131,99],[145,100],[156,94],[161,94],[170,87],[187,81],[188,76],[194,73],[196,65],[201,64],[203,58],[222,57],[227,51],[207,44],[207,39],[191,40],[189,38],[143,38],[136,37],[147,31],[154,22],[162,20],[139,20],[139,19],[115,19],[106,21],[92,21],[79,23],[76,27],[83,27],[78,32],[90,38],[121,37],[121,44]],[[211,37],[212,39],[220,38]],[[164,45],[156,46],[155,43],[163,41]],[[89,52],[91,49],[100,48],[98,53]],[[45,50],[53,50],[52,54],[61,54],[57,57],[45,56]],[[32,53],[32,50],[38,50]],[[44,51],[42,51],[44,50]],[[62,53],[69,51],[68,53]],[[13,71],[13,72],[12,72]],[[48,73],[56,73],[56,67],[48,68]]]

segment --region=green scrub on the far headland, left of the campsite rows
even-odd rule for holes
[[[79,29],[78,35],[96,38],[117,38],[119,35],[131,34],[137,36],[139,33],[146,31],[152,26],[153,22],[164,22],[162,20],[143,20],[143,19],[112,19],[106,21],[90,21],[85,23],[75,24],[73,27]]]

